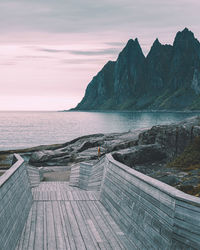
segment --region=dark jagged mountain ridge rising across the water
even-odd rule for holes
[[[173,45],[158,39],[145,57],[130,39],[115,62],[92,79],[73,110],[200,109],[200,43],[185,28]]]

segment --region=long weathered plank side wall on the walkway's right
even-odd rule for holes
[[[106,157],[100,201],[133,244],[200,249],[199,198]]]

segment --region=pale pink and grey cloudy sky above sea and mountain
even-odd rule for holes
[[[185,27],[200,40],[199,0],[0,0],[0,110],[75,107],[130,38],[144,54]]]

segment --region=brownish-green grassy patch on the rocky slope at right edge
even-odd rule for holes
[[[196,137],[182,154],[168,163],[167,167],[180,168],[184,171],[200,169],[200,136]]]

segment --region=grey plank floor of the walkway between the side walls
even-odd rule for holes
[[[99,192],[43,182],[16,250],[134,249],[104,206]]]

